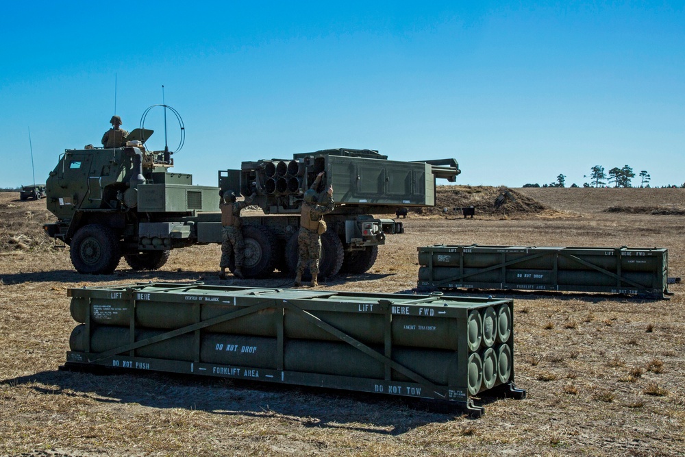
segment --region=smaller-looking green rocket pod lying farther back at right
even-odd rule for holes
[[[419,247],[419,287],[668,293],[668,251],[628,247]]]

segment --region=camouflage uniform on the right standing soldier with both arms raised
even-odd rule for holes
[[[314,181],[310,188],[316,190],[319,186],[319,179]],[[319,235],[319,221],[324,214],[328,214],[335,207],[333,197],[329,198],[326,205],[316,205],[315,203],[302,203],[300,230],[297,235],[297,268],[295,273],[297,278],[309,267],[312,273],[312,282],[319,275],[319,259],[321,258],[321,235]],[[309,214],[307,218],[306,215]],[[308,220],[307,220],[308,219]],[[306,227],[309,225],[309,227]],[[297,282],[297,281],[296,281]]]

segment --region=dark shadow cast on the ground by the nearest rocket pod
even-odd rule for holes
[[[451,421],[463,413],[455,406],[449,406],[448,412],[436,412],[427,410],[427,405],[416,399],[326,388],[168,373],[107,373],[111,372],[42,371],[1,380],[0,384],[27,388],[38,395],[66,395],[150,408],[184,408],[219,415],[282,415],[305,426],[389,435],[403,434],[427,423]]]

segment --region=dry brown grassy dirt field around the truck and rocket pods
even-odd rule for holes
[[[445,192],[438,206],[451,204]],[[516,192],[545,209],[507,219],[410,214],[406,234],[388,236],[369,273],[322,288],[406,291],[416,286],[416,247],[435,243],[665,247],[669,276],[685,277],[685,217],[604,212],[683,206],[685,190]],[[50,219],[45,201],[0,193],[0,455],[682,456],[685,449],[685,284],[669,286],[669,300],[507,294],[516,384],[528,397],[480,399],[486,414],[469,419],[393,397],[58,371],[75,327],[67,288],[149,280],[287,286],[288,278],[221,282],[219,246],[174,251],[153,273],[122,262],[114,275],[82,276],[68,251],[42,238],[40,225]]]

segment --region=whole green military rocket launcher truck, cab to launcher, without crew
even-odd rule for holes
[[[243,212],[245,277],[294,274],[303,194],[320,171],[321,198],[332,184],[336,199],[325,217],[321,277],[363,273],[386,235],[403,232],[401,222],[372,213],[434,206],[436,178],[453,182],[460,173],[453,159],[396,162],[369,149],[326,149],[242,162],[219,171],[219,186],[197,186],[192,175],[170,170],[168,151],[145,148],[152,133],[134,129],[121,148],[67,149],[50,172],[47,208],[58,221],[45,232],[69,245],[79,273],[112,273],[122,256],[132,269],[158,269],[171,249],[221,243],[221,189],[256,193],[264,213]]]

